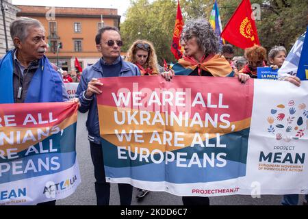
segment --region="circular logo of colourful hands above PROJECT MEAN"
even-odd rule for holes
[[[266,118],[269,123],[268,132],[275,136],[277,141],[290,142],[298,140],[307,133],[308,110],[305,103],[289,101],[287,107],[283,104],[277,105],[270,110],[270,116]]]

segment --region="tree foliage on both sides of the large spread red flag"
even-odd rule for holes
[[[222,27],[224,27],[241,0],[218,1]],[[296,39],[308,25],[308,1],[251,0],[261,6],[261,20],[256,21],[261,46],[271,49],[282,45],[290,51]]]

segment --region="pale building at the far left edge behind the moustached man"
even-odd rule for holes
[[[3,21],[3,13],[6,27],[6,38],[8,40],[8,49],[14,49],[13,40],[10,35],[10,23],[16,19],[17,12],[20,11],[19,8],[12,5],[12,0],[2,0],[3,10],[1,8],[1,16],[0,16],[0,58],[3,57],[6,53],[6,42],[5,42],[5,32],[4,32],[4,21]]]

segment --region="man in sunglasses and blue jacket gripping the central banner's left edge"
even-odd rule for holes
[[[130,62],[125,62],[120,57],[120,47],[123,45],[123,42],[116,27],[105,26],[99,29],[95,42],[97,50],[101,52],[102,57],[97,63],[84,69],[76,95],[81,103],[79,111],[82,113],[89,111],[86,127],[88,129],[88,140],[90,141],[90,152],[94,165],[94,177],[96,179],[95,193],[97,194],[97,205],[109,205],[110,183],[105,181],[96,96],[96,94],[101,94],[101,90],[97,86],[103,86],[103,83],[100,83],[97,78],[138,76],[140,71],[137,66]],[[118,184],[118,190],[120,193],[120,204],[131,205],[132,186],[120,183]]]

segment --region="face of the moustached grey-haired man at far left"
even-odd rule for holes
[[[24,42],[18,40],[17,47],[27,60],[38,60],[47,49],[47,44],[44,40],[45,31],[42,27],[29,27],[27,38]]]

